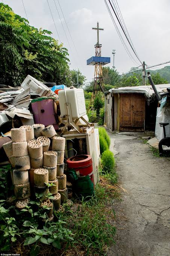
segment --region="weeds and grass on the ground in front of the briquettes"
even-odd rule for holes
[[[38,255],[44,245],[53,254],[56,249],[67,254],[70,248],[78,254],[77,250],[85,251],[86,255],[94,255],[96,251],[105,254],[115,235],[115,227],[107,222],[107,216],[114,214],[114,210],[106,207],[111,200],[109,196],[106,188],[97,185],[90,200],[82,199],[73,209],[64,204],[65,212],[54,211],[57,220],[49,222],[47,219],[44,225],[39,222],[47,218],[50,208],[40,206],[40,195],[21,211],[0,200],[0,251],[11,251],[13,243],[19,242],[21,252],[26,246],[30,255]]]

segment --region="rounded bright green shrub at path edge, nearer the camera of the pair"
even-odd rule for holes
[[[103,152],[101,157],[102,169],[106,172],[114,171],[115,160],[114,154],[108,149]]]

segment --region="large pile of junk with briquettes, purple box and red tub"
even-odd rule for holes
[[[53,219],[73,196],[94,194],[99,131],[88,122],[83,89],[49,88],[30,75],[19,88],[0,88],[0,133],[0,165],[12,165],[7,200],[18,209],[40,194]]]

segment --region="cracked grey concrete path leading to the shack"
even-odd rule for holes
[[[115,212],[118,221],[116,244],[108,256],[170,255],[170,161],[155,157],[144,135],[112,134],[110,150],[117,159],[123,193]]]

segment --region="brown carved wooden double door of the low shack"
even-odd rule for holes
[[[140,93],[120,94],[120,130],[143,131],[145,98]]]

